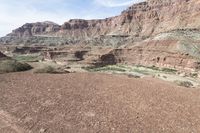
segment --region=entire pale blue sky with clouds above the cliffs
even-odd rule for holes
[[[143,0],[0,0],[0,36],[27,22],[101,19]]]

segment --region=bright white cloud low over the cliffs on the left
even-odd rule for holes
[[[47,1],[53,2],[56,0]],[[73,13],[67,10],[67,13],[62,10],[49,12],[37,10],[34,6],[32,6],[37,2],[39,2],[39,4],[44,4],[45,1],[43,0],[27,0],[27,2],[25,0],[21,0],[19,3],[11,2],[12,0],[8,0],[7,2],[3,1],[0,4],[0,37],[5,36],[25,23],[49,20],[62,24],[70,17],[73,17]]]

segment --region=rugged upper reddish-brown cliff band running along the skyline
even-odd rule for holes
[[[116,17],[73,19],[61,26],[50,22],[25,24],[9,35],[29,37],[45,34],[70,39],[100,35],[149,37],[174,29],[200,29],[199,0],[147,0],[130,6]]]

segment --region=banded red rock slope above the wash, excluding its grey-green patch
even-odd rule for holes
[[[196,70],[200,64],[187,53],[173,51],[175,40],[148,41],[132,48],[114,49],[100,57],[99,64],[129,64]]]

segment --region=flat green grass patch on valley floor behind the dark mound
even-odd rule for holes
[[[38,62],[41,58],[38,55],[17,55],[14,59],[20,62]]]

